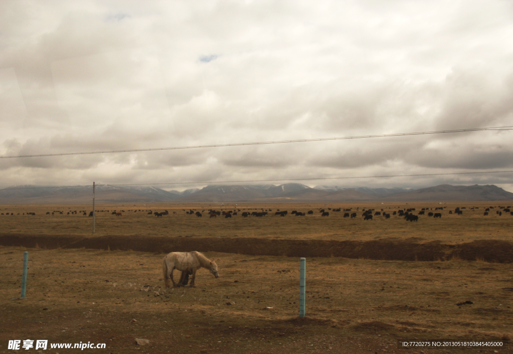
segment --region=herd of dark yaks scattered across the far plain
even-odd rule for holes
[[[426,213],[427,213],[428,217],[432,217],[435,219],[442,218],[441,211],[443,211],[446,208],[447,207],[445,207],[445,206],[444,207],[436,207],[436,208],[434,208],[435,212],[430,211],[433,208],[431,208],[431,209],[430,208],[422,208],[422,210],[420,210],[419,212],[416,212],[415,208],[399,209],[399,210],[393,210],[390,212],[392,213],[392,215],[397,215],[397,217],[399,217],[399,218],[404,218],[404,220],[406,220],[406,221],[413,222],[413,221],[419,221],[419,215],[426,215]],[[483,215],[484,216],[488,215],[491,212],[490,209],[495,209],[495,208],[497,208],[496,213],[499,216],[501,216],[503,213],[509,213],[510,215],[513,215],[513,211],[510,211],[511,206],[507,206],[507,207],[505,207],[505,206],[498,206],[498,207],[490,206],[490,207],[485,208]],[[352,209],[353,208],[343,209],[343,210],[341,208],[338,208],[338,209],[327,208],[327,210],[325,210],[322,208],[318,208],[318,212],[321,214],[322,217],[329,217],[329,211],[331,211],[331,212],[344,211],[344,215],[343,215],[344,218],[350,218],[350,219],[357,218],[358,213],[361,212],[361,217],[363,218],[363,220],[373,220],[373,217],[382,217],[384,219],[390,219],[390,213],[384,211],[383,209],[376,210],[376,209],[362,208],[360,210],[360,207],[355,208],[356,211],[353,211]],[[457,207],[454,211],[449,210],[448,214],[462,215],[463,209],[466,209],[466,207],[461,207],[461,208]],[[470,210],[475,210],[475,209],[479,209],[479,207],[470,208]],[[185,209],[182,209],[182,210],[186,211]],[[250,210],[250,209],[248,209],[248,210]],[[254,209],[254,210],[257,210],[257,209]],[[437,210],[439,210],[439,211],[437,212]],[[137,210],[130,210],[130,209],[127,211],[137,212]],[[146,211],[148,215],[154,215],[157,218],[162,218],[164,215],[169,215],[169,211],[167,211],[167,210],[162,211],[162,212],[157,212],[157,211],[152,211],[152,210],[139,209],[139,211]],[[226,211],[208,209],[208,210],[202,210],[201,212],[196,211],[196,209],[189,209],[189,211],[186,211],[186,214],[195,215],[198,218],[202,218],[203,217],[202,213],[204,213],[205,211],[207,212],[207,215],[209,218],[224,217],[225,219],[229,219],[232,216],[238,215],[238,213],[241,212],[241,209],[226,210]],[[96,212],[109,212],[109,210],[96,210]],[[241,213],[241,215],[243,218],[247,218],[247,217],[261,218],[261,217],[267,216],[269,214],[269,212],[272,212],[272,210],[271,209],[264,210],[263,208],[261,208],[260,211],[252,211],[252,212],[243,211]],[[416,212],[416,214],[414,212]],[[54,215],[55,213],[62,215],[64,212],[60,211],[60,210],[54,210],[51,212],[52,215]],[[74,211],[67,212],[68,215],[77,214],[77,213],[82,213],[83,215],[87,215],[87,212],[85,210],[80,210],[80,211],[74,210]],[[125,213],[125,210],[121,210],[121,212],[113,210],[111,214],[116,215],[117,217],[121,217],[123,215],[123,213]],[[4,213],[1,213],[1,214],[2,215],[14,215],[13,212],[6,212],[5,214]],[[17,214],[19,215],[19,213],[17,213]],[[25,214],[35,215],[34,212],[24,212],[23,215],[25,215]],[[50,211],[47,211],[46,214],[49,215]],[[173,211],[173,214],[176,214],[176,211]],[[277,209],[277,211],[274,212],[274,215],[279,216],[279,217],[285,217],[287,214],[288,214],[287,210]],[[295,215],[297,217],[304,217],[306,215],[313,215],[313,214],[314,214],[313,210],[309,210],[306,213],[302,212],[302,211],[292,210],[292,212],[290,213],[290,215]],[[91,211],[91,212],[89,212],[89,217],[92,217],[92,216],[93,216],[93,212]]]

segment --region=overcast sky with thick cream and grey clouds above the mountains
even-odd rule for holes
[[[0,155],[513,125],[512,38],[513,3],[500,0],[2,0]],[[0,187],[508,170],[512,138],[486,131],[0,159]],[[299,183],[513,191],[512,177]]]

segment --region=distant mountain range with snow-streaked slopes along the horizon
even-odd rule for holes
[[[225,202],[420,202],[420,201],[513,200],[513,193],[494,185],[440,185],[422,189],[343,188],[299,183],[275,185],[207,186],[179,192],[156,187],[95,187],[95,201],[101,203],[225,203]],[[89,204],[92,186],[37,187],[12,186],[0,189],[0,204]]]

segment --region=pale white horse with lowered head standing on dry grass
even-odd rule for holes
[[[195,287],[194,279],[196,278],[196,271],[200,268],[206,268],[214,274],[215,278],[219,278],[218,265],[214,260],[210,261],[202,253],[192,252],[171,252],[162,260],[162,272],[164,274],[164,281],[166,288],[170,287],[169,278],[173,282],[173,287],[179,287],[185,274],[192,274],[190,286]],[[182,277],[179,283],[175,283],[173,279],[173,270],[177,269],[182,272]]]

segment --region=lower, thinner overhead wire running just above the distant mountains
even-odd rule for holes
[[[169,182],[169,183],[130,183],[130,184],[105,184],[103,186],[160,186],[160,185],[177,185],[177,184],[215,184],[215,183],[245,183],[245,182],[280,182],[280,181],[321,181],[321,180],[350,180],[362,178],[391,178],[391,177],[415,177],[415,176],[442,176],[454,174],[489,174],[489,173],[507,173],[508,171],[478,171],[478,172],[450,172],[450,173],[416,173],[416,174],[387,174],[379,176],[352,176],[352,177],[322,177],[322,178],[295,178],[295,179],[277,179],[277,180],[240,180],[240,181],[203,181],[203,182]],[[96,185],[100,187],[102,185]],[[55,187],[20,187],[20,188],[6,188],[0,191],[10,191],[16,189],[46,189],[46,188],[73,188],[73,187],[91,187],[87,186],[55,186]]]

